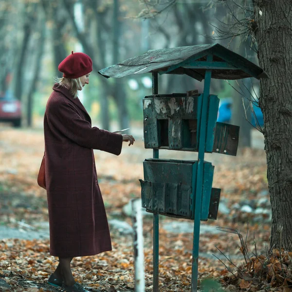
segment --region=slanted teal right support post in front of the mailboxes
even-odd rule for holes
[[[212,60],[213,60],[213,56],[208,55],[207,62],[212,62]],[[198,259],[199,259],[199,240],[200,240],[200,224],[201,224],[201,202],[202,202],[202,189],[203,189],[205,141],[206,141],[206,132],[207,132],[208,96],[210,94],[211,73],[212,73],[211,70],[206,70],[205,72],[203,100],[202,100],[202,107],[201,107],[196,199],[195,199],[195,210],[194,210],[195,213],[194,213],[191,292],[197,292],[197,289],[198,289]]]

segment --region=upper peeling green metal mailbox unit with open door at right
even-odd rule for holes
[[[145,148],[198,151],[202,94],[151,95],[143,99]],[[219,98],[208,96],[205,152],[236,155],[239,127],[217,123]]]

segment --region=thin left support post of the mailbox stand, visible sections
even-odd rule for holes
[[[152,94],[158,94],[158,72],[152,72]],[[153,149],[153,158],[159,158],[159,150]],[[153,292],[159,290],[159,215],[153,214]]]

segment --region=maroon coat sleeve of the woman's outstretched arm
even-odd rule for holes
[[[47,119],[50,129],[61,132],[79,146],[99,149],[115,155],[122,151],[123,136],[111,133],[84,120],[69,103],[52,102],[47,107]]]

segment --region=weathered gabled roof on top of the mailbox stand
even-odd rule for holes
[[[206,61],[207,55],[213,55],[212,62]],[[268,78],[256,64],[219,44],[149,50],[98,73],[107,78],[121,78],[157,71],[160,74],[187,74],[201,81],[207,69],[212,69],[212,78],[216,79]]]

